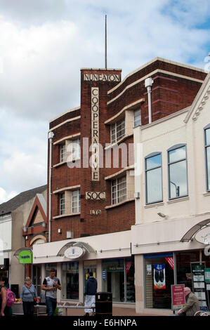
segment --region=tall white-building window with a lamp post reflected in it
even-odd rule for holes
[[[186,146],[177,145],[168,150],[169,199],[188,196]]]

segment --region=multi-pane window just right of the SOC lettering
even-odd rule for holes
[[[112,181],[112,204],[126,200],[126,176]]]

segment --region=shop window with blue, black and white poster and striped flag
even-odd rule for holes
[[[144,256],[145,308],[171,309],[173,254]]]

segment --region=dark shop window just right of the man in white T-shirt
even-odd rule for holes
[[[79,299],[79,263],[62,263],[62,298]]]

